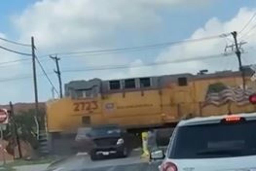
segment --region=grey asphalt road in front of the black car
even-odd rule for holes
[[[140,158],[140,151],[133,151],[127,158],[91,161],[88,155],[76,155],[53,163],[48,171],[141,171],[158,170],[161,161],[149,163]]]

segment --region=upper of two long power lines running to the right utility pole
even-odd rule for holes
[[[179,40],[174,42],[158,43],[158,44],[151,44],[151,45],[144,45],[144,46],[115,48],[115,49],[86,50],[86,51],[76,51],[76,52],[56,52],[52,54],[42,55],[40,57],[49,56],[49,55],[77,55],[77,54],[94,54],[99,52],[120,52],[120,51],[127,51],[127,50],[143,50],[143,49],[164,47],[164,46],[181,44],[181,43],[190,43],[190,42],[198,42],[198,41],[215,39],[215,38],[224,38],[229,35],[230,33],[223,33],[216,36],[209,36],[209,37],[198,38],[198,39],[185,39],[185,40]]]

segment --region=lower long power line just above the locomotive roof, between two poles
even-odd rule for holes
[[[181,63],[181,62],[190,62],[190,61],[196,61],[196,60],[205,60],[205,59],[210,59],[210,58],[216,58],[216,57],[227,57],[230,55],[234,55],[234,52],[229,53],[229,54],[218,54],[218,55],[210,55],[210,56],[203,56],[203,57],[194,57],[194,58],[189,58],[189,59],[181,59],[181,60],[173,60],[173,61],[159,61],[159,62],[152,62],[152,63],[147,63],[143,65],[136,65],[136,66],[131,66],[131,65],[103,65],[103,66],[94,66],[92,68],[81,68],[81,69],[64,69],[62,70],[62,73],[67,73],[67,72],[86,72],[86,71],[94,71],[94,70],[112,70],[112,69],[126,69],[126,68],[140,68],[140,67],[147,67],[147,66],[156,66],[156,65],[166,65],[166,64],[171,64],[171,63]]]

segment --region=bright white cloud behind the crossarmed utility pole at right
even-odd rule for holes
[[[231,31],[239,32],[244,25],[248,22],[251,16],[256,12],[256,9],[249,9],[249,8],[241,8],[238,11],[238,14],[229,21],[222,22],[218,18],[213,17],[202,28],[198,28],[190,37],[189,39],[197,39],[209,36],[215,36],[221,33],[230,33]],[[247,33],[251,28],[253,28],[256,19],[248,25],[248,27],[240,34],[243,35]],[[240,41],[240,35],[238,35],[238,41]],[[247,36],[248,45],[255,46],[256,45],[256,34],[255,31],[252,31],[251,34]],[[170,46],[164,51],[162,51],[158,57],[156,58],[156,62],[161,61],[175,61],[175,60],[189,60],[191,58],[197,57],[204,57],[204,56],[211,56],[214,54],[223,54],[225,46],[227,44],[231,44],[233,40],[232,36],[227,39],[210,39],[200,42],[194,43],[184,43],[178,46]],[[244,47],[248,46],[245,45]],[[136,61],[139,61],[137,59]],[[135,62],[136,62],[135,61]],[[252,54],[242,54],[242,61],[245,64],[248,63],[255,63],[254,56]],[[141,61],[141,63],[143,63]],[[201,69],[209,69],[210,72],[232,69],[237,70],[237,58],[236,56],[230,57],[220,57],[216,59],[209,59],[209,60],[199,60],[185,62],[185,63],[173,63],[173,64],[166,64],[164,66],[157,66],[157,67],[147,67],[147,74],[146,75],[159,75],[159,74],[173,74],[173,73],[197,73]],[[131,76],[140,74],[144,70],[144,67],[138,68],[131,68],[129,74]]]

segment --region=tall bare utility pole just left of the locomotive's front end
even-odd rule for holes
[[[36,127],[37,127],[37,139],[39,139],[39,123],[38,123],[38,115],[39,115],[39,109],[38,109],[38,92],[37,92],[37,80],[36,80],[36,55],[35,55],[35,42],[34,37],[31,37],[31,47],[32,47],[32,64],[33,64],[33,80],[34,80],[34,91],[35,91],[35,108],[36,113],[34,116]]]

